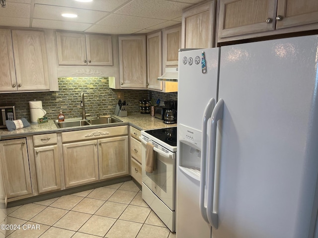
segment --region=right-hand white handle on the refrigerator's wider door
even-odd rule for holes
[[[207,217],[209,223],[214,229],[218,229],[218,211],[213,211],[213,193],[214,193],[214,174],[215,174],[215,151],[216,151],[216,130],[217,121],[223,119],[224,101],[220,99],[215,105],[211,117],[209,154],[208,154],[208,199],[207,199]],[[215,194],[218,197],[218,194]]]

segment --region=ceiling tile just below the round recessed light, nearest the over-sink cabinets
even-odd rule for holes
[[[58,29],[66,31],[84,31],[92,24],[81,22],[65,22],[54,20],[33,19],[32,27],[46,28],[46,29]]]

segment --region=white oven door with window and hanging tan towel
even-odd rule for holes
[[[146,165],[146,141],[141,139],[142,143],[142,179],[143,182],[174,211],[175,201],[175,152],[168,150],[155,151],[155,170],[153,173],[145,171]]]

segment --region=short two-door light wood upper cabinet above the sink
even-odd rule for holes
[[[113,65],[109,35],[56,32],[59,65]]]

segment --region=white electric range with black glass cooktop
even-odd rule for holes
[[[142,130],[142,188],[143,199],[171,231],[175,231],[175,159],[177,127]],[[146,144],[155,151],[155,170],[145,171]]]

